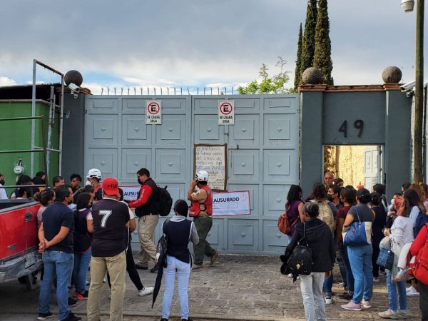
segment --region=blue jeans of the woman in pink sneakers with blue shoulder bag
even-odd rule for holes
[[[355,280],[352,302],[369,301],[373,295],[372,245],[348,246],[347,252]]]

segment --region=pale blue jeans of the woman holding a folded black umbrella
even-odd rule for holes
[[[163,269],[165,292],[162,301],[162,317],[168,319],[170,315],[171,300],[173,300],[175,272],[178,281],[178,300],[180,300],[180,314],[182,319],[189,317],[188,285],[190,276],[190,263],[184,263],[173,256],[167,255],[168,267]]]

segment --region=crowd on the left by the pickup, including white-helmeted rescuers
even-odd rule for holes
[[[52,187],[47,187],[46,174],[39,172],[34,178],[21,175],[9,197],[34,198],[41,206],[37,213],[39,226],[39,252],[44,266],[40,271],[38,320],[53,317],[49,300],[51,288],[56,288],[58,320],[81,320],[71,307],[79,300],[87,300],[88,320],[100,318],[100,296],[103,283],[111,288],[110,320],[122,320],[125,277],[128,272],[139,296],[150,295],[153,287],[145,287],[138,270],[163,273],[165,291],[162,303],[162,321],[168,320],[174,292],[175,275],[178,279],[180,315],[183,321],[191,320],[188,307],[188,280],[190,270],[203,267],[205,255],[213,265],[219,252],[206,240],[213,225],[213,195],[208,186],[208,173],[200,170],[190,183],[187,198],[177,200],[175,215],[165,221],[163,233],[168,235],[168,252],[165,268],[159,268],[154,235],[159,220],[158,185],[149,170],[136,173],[141,188],[136,200],[124,200],[123,190],[115,178],[104,178],[98,168],[88,170],[86,183],[81,175],[73,174],[69,185],[56,176]],[[102,181],[101,181],[102,180]],[[0,174],[0,184],[4,185]],[[0,188],[4,191],[4,188]],[[134,209],[134,211],[131,210]],[[193,220],[188,219],[188,215]],[[141,243],[140,260],[135,263],[131,249],[131,233],[137,228]],[[191,255],[188,244],[194,245]],[[195,261],[193,263],[193,257]],[[91,280],[86,280],[90,270]],[[33,275],[36,280],[36,275]],[[89,284],[88,290],[86,286]],[[69,292],[73,292],[70,297]]]

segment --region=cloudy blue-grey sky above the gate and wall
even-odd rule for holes
[[[3,1],[0,86],[31,83],[36,58],[80,71],[93,93],[230,91],[258,78],[262,63],[278,73],[282,56],[292,87],[306,8],[306,0]],[[328,11],[336,85],[382,83],[391,65],[402,68],[402,82],[414,80],[416,15],[402,13],[400,0],[329,0]],[[58,81],[37,72],[37,81]]]

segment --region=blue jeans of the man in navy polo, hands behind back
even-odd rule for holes
[[[70,314],[68,308],[68,287],[73,271],[73,253],[45,250],[43,255],[44,276],[40,285],[39,312],[49,313],[51,307],[51,288],[56,278],[56,301],[58,302],[59,320],[64,320]]]

